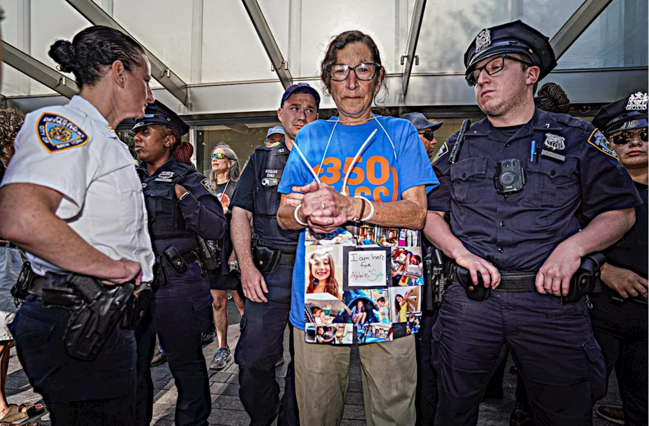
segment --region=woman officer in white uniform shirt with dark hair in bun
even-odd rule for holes
[[[69,272],[106,284],[151,281],[154,262],[140,179],[113,128],[153,102],[151,66],[136,41],[90,27],[49,55],[81,88],[66,106],[27,115],[0,190],[0,234],[29,253],[43,288]],[[38,292],[36,292],[38,294]],[[12,331],[34,390],[52,425],[130,425],[135,405],[136,344],[117,325],[93,361],[63,344],[69,311],[27,296]]]

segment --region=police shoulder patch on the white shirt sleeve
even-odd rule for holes
[[[60,152],[69,148],[80,147],[88,142],[88,134],[77,124],[66,117],[45,112],[36,124],[36,132],[49,152]]]

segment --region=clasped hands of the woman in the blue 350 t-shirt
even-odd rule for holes
[[[317,233],[333,232],[356,218],[361,210],[362,198],[351,198],[326,185],[313,181],[308,185],[294,186],[287,196],[287,204],[297,207],[297,215]]]

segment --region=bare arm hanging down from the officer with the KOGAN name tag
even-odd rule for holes
[[[252,302],[268,302],[264,293],[268,293],[262,273],[252,261],[252,213],[241,207],[232,208],[230,221],[230,239],[234,252],[239,259],[241,269],[241,287],[243,294]]]

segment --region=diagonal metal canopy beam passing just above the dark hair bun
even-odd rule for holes
[[[104,10],[92,0],[66,0],[73,8],[77,10],[93,25],[104,25],[106,27],[114,28],[124,34],[129,34],[115,19],[109,16]],[[133,40],[137,39],[129,34]],[[141,43],[140,43],[141,45]],[[188,103],[188,90],[187,84],[178,77],[176,73],[171,71],[171,68],[163,64],[149,49],[145,46],[144,53],[151,62],[151,75],[158,80],[162,86],[167,89],[181,104],[187,105]]]

